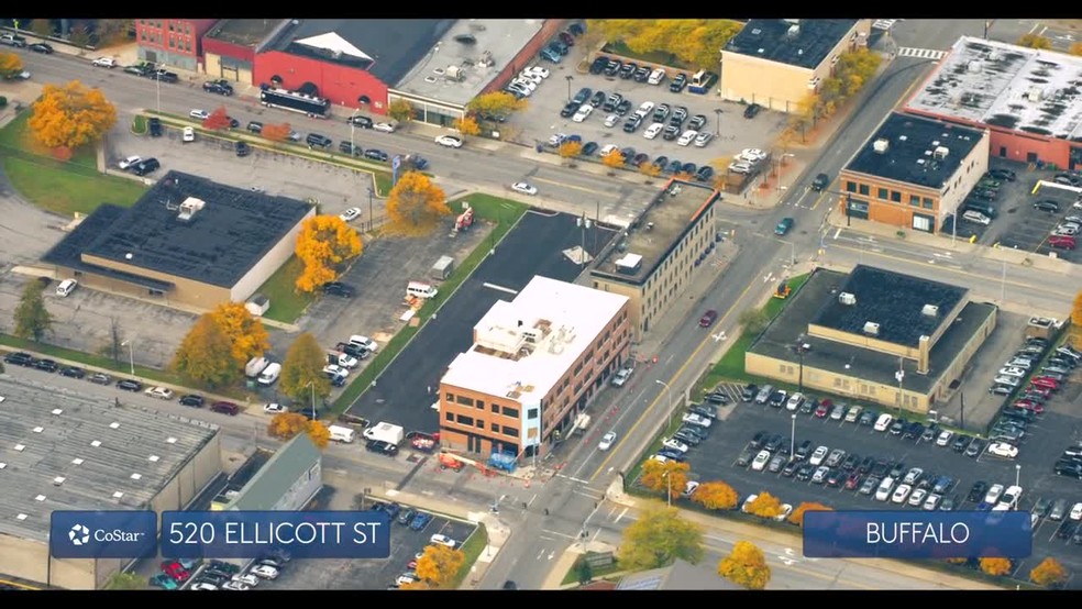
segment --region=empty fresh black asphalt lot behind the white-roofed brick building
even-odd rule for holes
[[[474,324],[497,300],[515,298],[515,292],[536,275],[573,281],[582,268],[564,251],[585,243],[586,250],[596,255],[616,234],[590,229],[597,239],[590,235],[584,242],[576,220],[574,215],[549,212],[523,215],[496,254],[477,267],[349,412],[411,431],[437,431],[439,414],[431,408],[437,401],[434,391],[451,361],[473,344]]]

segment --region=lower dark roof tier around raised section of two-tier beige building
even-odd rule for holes
[[[837,375],[860,378],[882,385],[897,385],[894,376],[898,370],[898,356],[862,346],[839,343],[817,336],[808,336],[808,322],[818,313],[824,301],[837,299],[838,292],[847,284],[849,275],[818,268],[797,292],[790,297],[782,313],[774,318],[770,326],[748,350],[766,357],[798,364],[801,358],[794,351],[797,342],[808,344],[804,354],[807,368],[830,372]],[[898,289],[895,294],[903,294]],[[917,363],[904,359],[902,369],[903,389],[928,395],[942,379],[948,366],[958,358],[978,330],[995,314],[995,306],[986,302],[968,302],[952,320],[939,341],[931,347],[928,372],[917,373]],[[949,379],[954,380],[954,379]]]

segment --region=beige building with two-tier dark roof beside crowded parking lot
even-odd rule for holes
[[[748,350],[748,374],[926,413],[995,329],[969,290],[881,268],[816,269]],[[901,373],[901,374],[899,374]]]

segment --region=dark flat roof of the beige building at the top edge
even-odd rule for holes
[[[752,19],[726,43],[722,53],[739,53],[814,69],[846,37],[855,19]]]

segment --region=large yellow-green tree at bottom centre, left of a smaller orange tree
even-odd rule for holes
[[[629,571],[667,566],[676,558],[692,564],[703,560],[703,530],[681,518],[676,508],[649,507],[623,530],[619,561]]]

